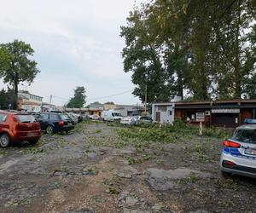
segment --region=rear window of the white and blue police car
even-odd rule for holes
[[[256,144],[256,130],[236,130],[233,140]]]

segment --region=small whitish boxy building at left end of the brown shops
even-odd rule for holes
[[[152,105],[152,118],[158,123],[172,124],[174,122],[175,103],[154,103]]]

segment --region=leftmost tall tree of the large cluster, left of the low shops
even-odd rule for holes
[[[170,89],[166,89],[166,72],[161,58],[161,46],[156,43],[156,29],[151,20],[146,20],[143,10],[135,10],[127,18],[128,26],[121,27],[125,37],[123,49],[125,72],[132,72],[132,83],[137,87],[133,94],[141,101],[170,101]]]

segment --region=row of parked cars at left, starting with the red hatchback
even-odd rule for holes
[[[11,142],[28,141],[36,144],[41,132],[49,135],[68,133],[83,117],[73,113],[40,112],[27,113],[0,111],[0,147],[8,147]]]

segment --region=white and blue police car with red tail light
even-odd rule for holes
[[[256,124],[236,128],[232,137],[224,141],[220,168],[224,176],[236,174],[256,178]]]

